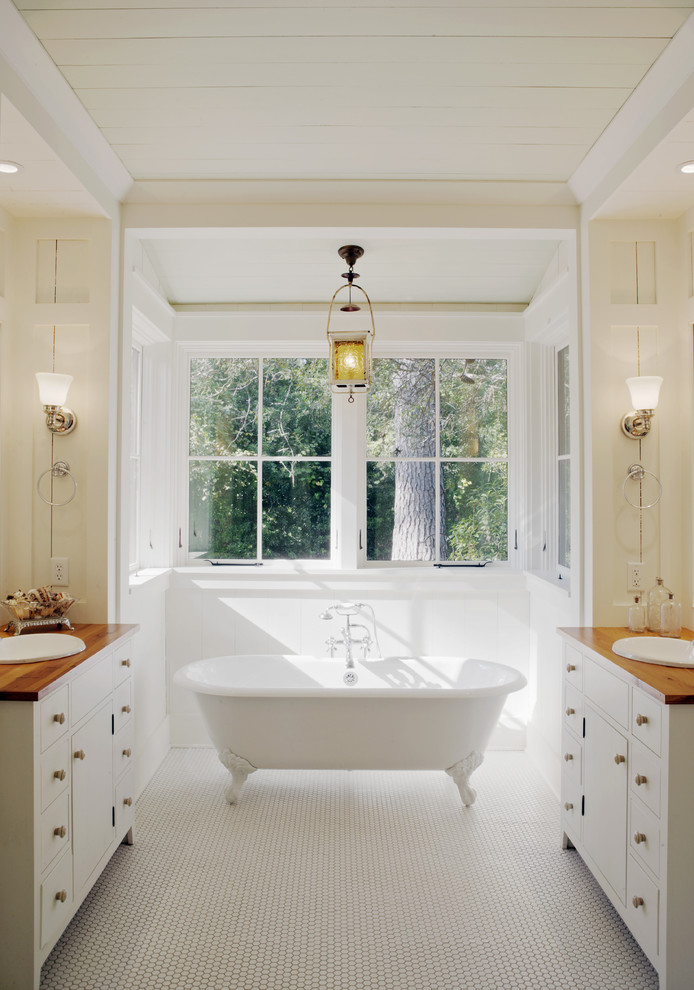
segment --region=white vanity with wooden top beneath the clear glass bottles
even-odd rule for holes
[[[694,669],[617,656],[612,645],[634,635],[627,629],[559,634],[563,847],[578,850],[660,990],[691,990]]]

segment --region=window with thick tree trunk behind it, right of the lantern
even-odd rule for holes
[[[386,358],[374,377],[367,559],[506,560],[506,360]]]

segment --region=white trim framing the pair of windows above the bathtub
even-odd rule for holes
[[[523,486],[520,465],[524,459],[525,438],[525,407],[522,401],[522,372],[524,345],[521,342],[474,342],[450,341],[430,342],[399,342],[387,341],[374,343],[374,358],[379,357],[438,357],[438,358],[505,358],[508,369],[508,559],[493,561],[486,568],[476,565],[462,565],[465,573],[486,570],[489,568],[518,568],[524,566],[523,550],[524,536],[521,520],[523,512]],[[190,361],[201,357],[326,357],[325,342],[315,340],[296,341],[179,341],[175,344],[174,353],[174,519],[175,542],[173,559],[175,567],[200,566],[195,558],[188,553],[188,416],[190,409]],[[333,396],[333,490],[338,491],[338,497],[331,501],[331,535],[329,560],[278,560],[263,561],[265,573],[271,569],[282,571],[326,570],[352,571],[366,569],[432,569],[432,561],[367,561],[366,560],[366,499],[363,495],[366,488],[366,396],[355,396],[354,403],[347,403],[343,395]],[[344,417],[353,414],[358,422],[351,431],[351,436],[344,431]],[[336,440],[342,437],[341,453],[345,456],[334,457],[337,449]],[[353,533],[351,541],[347,534]],[[359,537],[361,533],[361,547]],[[254,563],[249,561],[248,563]],[[237,568],[238,564],[217,565]],[[454,563],[442,562],[437,569],[458,570]],[[248,568],[249,574],[255,569]]]

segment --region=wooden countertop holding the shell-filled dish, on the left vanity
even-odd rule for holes
[[[79,667],[105,647],[132,636],[138,628],[136,625],[122,623],[81,622],[76,623],[72,629],[61,630],[60,635],[79,636],[86,649],[58,660],[0,664],[0,701],[38,701],[60,687],[75,667]],[[55,633],[56,630],[49,631]],[[37,635],[42,634],[37,632]]]

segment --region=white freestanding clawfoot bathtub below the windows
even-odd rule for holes
[[[463,803],[504,701],[526,681],[503,664],[456,657],[357,661],[272,655],[198,660],[174,683],[195,692],[231,772],[234,804],[264,769],[446,770]]]

